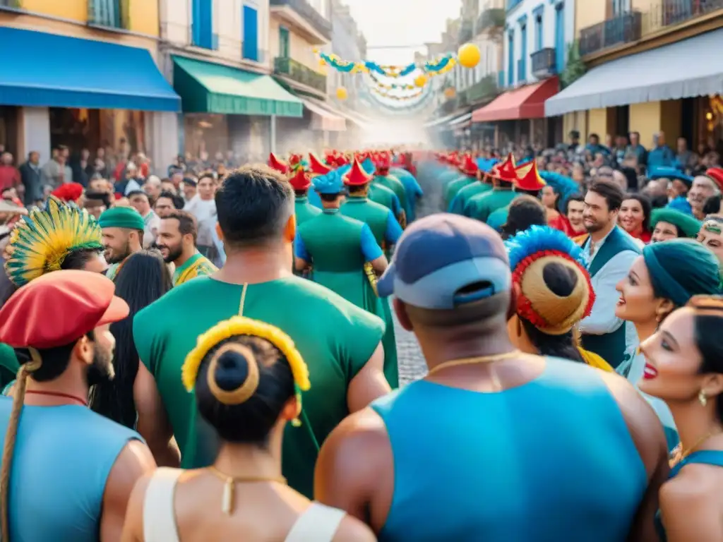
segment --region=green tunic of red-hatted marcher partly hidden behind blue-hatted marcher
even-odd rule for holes
[[[382,250],[389,248],[385,241],[389,216],[389,210],[386,207],[370,202],[365,197],[350,197],[341,206],[341,213],[369,225],[369,229],[372,230],[374,238],[382,247]],[[394,389],[399,386],[399,367],[397,364],[397,341],[394,335],[394,321],[388,300],[377,298],[375,314],[384,320],[387,327],[382,340],[382,345],[384,345],[384,374],[389,385]]]

